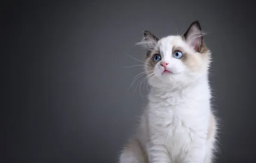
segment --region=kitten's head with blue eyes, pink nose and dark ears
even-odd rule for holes
[[[159,39],[144,31],[142,42],[146,48],[146,64],[150,85],[180,87],[207,77],[210,50],[205,46],[204,33],[198,21],[193,22],[181,36]]]

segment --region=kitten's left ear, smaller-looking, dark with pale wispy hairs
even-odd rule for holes
[[[158,37],[149,32],[148,30],[144,31],[143,43],[147,52],[151,52],[155,48],[157,48],[157,42],[159,41]]]

